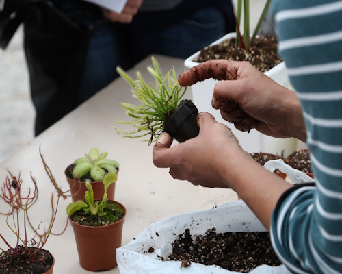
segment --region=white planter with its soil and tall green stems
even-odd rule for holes
[[[185,67],[190,69],[193,66],[197,66],[198,64],[200,64],[200,62],[207,60],[209,55],[214,59],[220,58],[228,60],[243,60],[241,56],[248,56],[249,60],[247,61],[249,62],[267,60],[267,64],[262,64],[260,66],[260,70],[263,71],[265,75],[272,78],[278,84],[281,84],[282,86],[285,86],[289,89],[293,89],[291,84],[289,83],[285,63],[281,62],[280,58],[278,59],[278,64],[276,64],[276,66],[273,66],[272,69],[269,69],[270,64],[268,63],[271,63],[274,59],[274,55],[270,55],[269,50],[263,51],[263,53],[257,52],[257,45],[253,45],[252,47],[248,46],[252,50],[251,53],[245,53],[246,51],[242,50],[242,48],[245,47],[245,45],[251,45],[251,42],[256,37],[263,16],[265,16],[265,12],[268,9],[269,2],[270,1],[267,1],[265,3],[265,7],[257,23],[257,27],[254,29],[254,34],[250,37],[249,1],[244,1],[244,35],[242,35],[239,29],[242,1],[239,0],[237,5],[237,32],[226,34],[219,40],[213,42],[208,47],[205,47],[201,51],[197,51],[193,55],[189,56],[189,58],[185,60]],[[250,40],[248,40],[248,37],[250,37]],[[225,45],[227,45],[227,47],[224,47]],[[228,45],[230,45],[231,47],[228,48]],[[222,52],[216,53],[216,48],[219,48]],[[226,52],[233,53],[233,57],[224,57]],[[274,49],[274,53],[276,53],[276,49]],[[200,57],[201,55],[202,57]],[[194,98],[193,100],[200,112],[209,112],[213,114],[215,119],[220,123],[230,125],[224,119],[222,119],[220,110],[214,110],[211,106],[213,90],[217,82],[218,80],[215,79],[207,79],[205,81],[194,84],[192,86],[192,95]],[[246,133],[240,132],[239,130],[235,129],[235,127],[231,127],[231,129],[235,136],[237,136],[237,138],[239,139],[241,147],[243,147],[246,151],[250,153],[255,151],[261,151],[266,153],[283,155],[286,157],[287,155],[289,155],[297,149],[297,140],[295,138],[274,138],[270,136],[265,136],[260,132],[257,132],[256,130],[252,130],[250,131],[250,133]]]

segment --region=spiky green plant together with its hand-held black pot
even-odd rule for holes
[[[137,72],[137,79],[133,80],[118,66],[118,73],[133,88],[131,90],[133,97],[140,100],[140,104],[120,103],[126,110],[127,116],[133,120],[118,121],[118,123],[131,124],[135,129],[132,132],[122,132],[118,128],[116,130],[123,137],[128,138],[149,136],[147,139],[149,145],[164,131],[179,142],[197,136],[198,110],[192,101],[182,100],[186,88],[182,88],[177,82],[176,71],[173,68],[164,76],[154,57],[152,62],[153,67],[149,66],[147,69],[155,78],[155,84],[147,84],[140,72]],[[180,112],[184,114],[179,114]],[[186,121],[190,121],[190,125],[186,125]]]

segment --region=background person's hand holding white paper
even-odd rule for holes
[[[111,10],[107,10],[106,8],[102,8],[103,15],[105,18],[109,19],[113,22],[120,23],[131,23],[135,14],[142,5],[143,0],[127,0],[126,5],[121,13],[113,12]]]

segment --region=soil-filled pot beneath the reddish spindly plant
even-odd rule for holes
[[[35,247],[29,247],[29,249],[31,252],[36,251]],[[21,246],[19,246],[19,250],[21,250]],[[8,253],[13,254],[13,251],[9,249],[0,255],[0,274],[42,274],[51,269],[53,265],[53,257],[49,251],[44,249],[38,251],[34,260],[25,260],[25,256],[14,258]]]

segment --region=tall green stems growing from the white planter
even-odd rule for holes
[[[263,22],[263,18],[269,8],[271,0],[267,0],[265,6],[263,8],[263,12],[261,12],[261,16],[257,22],[257,26],[254,29],[252,34],[252,38],[250,38],[250,0],[237,0],[237,15],[235,16],[235,20],[237,23],[237,37],[236,37],[236,45],[239,45],[243,49],[249,49],[250,44],[253,42],[257,33],[261,27],[261,23]],[[240,23],[241,23],[241,13],[242,8],[244,8],[244,35],[241,35]]]

